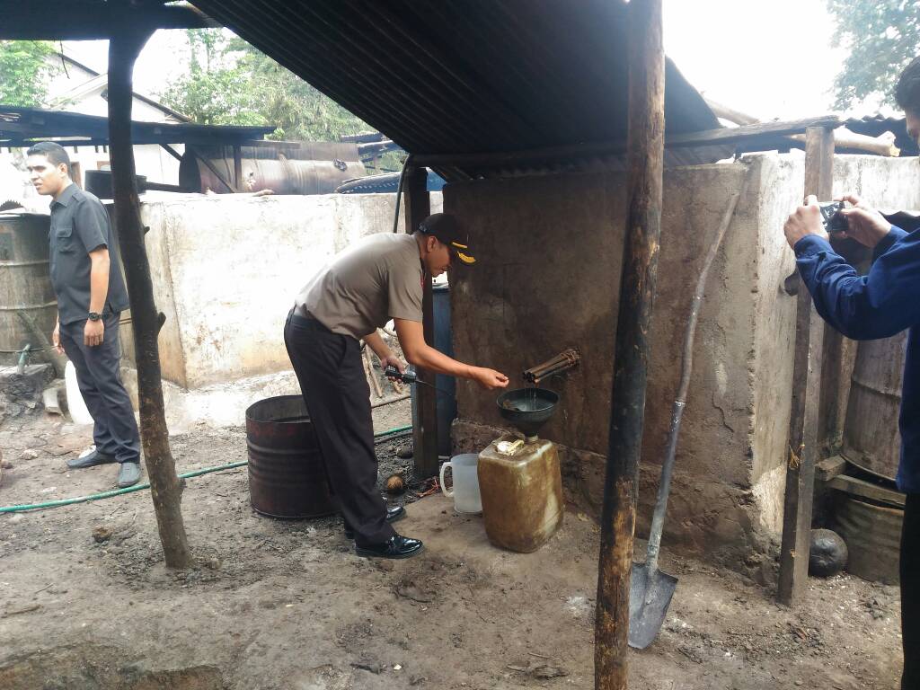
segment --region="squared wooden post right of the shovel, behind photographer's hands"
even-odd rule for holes
[[[829,200],[833,175],[834,132],[828,128],[810,127],[805,132],[806,196],[815,194],[821,201]],[[799,603],[808,581],[824,334],[824,322],[814,310],[811,294],[804,285],[799,289],[797,300],[783,541],[776,592],[779,602],[790,606]]]

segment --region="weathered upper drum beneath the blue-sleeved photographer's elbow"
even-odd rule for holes
[[[845,458],[891,480],[901,455],[898,413],[906,346],[907,331],[892,338],[861,341],[846,404]]]

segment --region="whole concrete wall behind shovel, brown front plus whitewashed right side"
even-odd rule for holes
[[[879,205],[914,207],[920,193],[915,161],[845,157],[837,176],[835,188],[861,190]],[[657,488],[690,296],[730,196],[742,189],[707,279],[666,532],[735,556],[764,550],[778,533],[795,336],[795,303],[781,290],[794,269],[782,225],[801,199],[802,181],[796,155],[666,172],[640,534]],[[593,509],[602,500],[625,182],[619,174],[564,175],[444,190],[445,210],[470,226],[481,258],[453,279],[454,351],[523,385],[527,366],[581,349],[581,369],[549,383],[562,405],[542,435],[565,446],[570,497]],[[461,383],[457,397],[454,442],[481,448],[501,425],[494,396]],[[748,565],[762,568],[756,558]]]

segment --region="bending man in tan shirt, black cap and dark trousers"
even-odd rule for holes
[[[377,334],[377,328],[392,318],[399,345],[413,365],[468,378],[486,389],[508,385],[504,374],[457,362],[425,342],[425,275],[441,275],[454,260],[476,261],[466,235],[448,213],[429,216],[411,235],[365,237],[305,285],[284,325],[284,343],[316,430],[330,488],[359,556],[408,558],[422,547],[420,540],[393,529],[390,523],[403,517],[405,509],[387,509],[376,489],[374,425],[360,340],[382,366],[405,371]]]

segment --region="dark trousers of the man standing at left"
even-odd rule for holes
[[[95,347],[84,344],[86,320],[61,324],[61,345],[74,363],[80,393],[86,409],[93,416],[96,450],[120,463],[136,463],[141,457],[141,437],[137,432],[131,397],[121,384],[119,316],[103,316],[105,333],[102,344]]]

